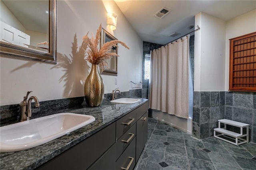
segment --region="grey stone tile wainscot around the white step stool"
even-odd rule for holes
[[[250,124],[250,141],[256,143],[256,93],[194,92],[194,137],[204,139],[213,136],[213,129],[218,127],[218,119],[224,118]],[[233,127],[227,128],[240,131]]]

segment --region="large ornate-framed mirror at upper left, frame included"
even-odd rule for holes
[[[1,0],[1,57],[56,64],[56,0]]]

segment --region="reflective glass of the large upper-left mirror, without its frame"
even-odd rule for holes
[[[1,41],[49,53],[49,1],[1,0]]]

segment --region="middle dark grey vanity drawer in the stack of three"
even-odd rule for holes
[[[124,152],[124,150],[128,147],[128,145],[132,142],[136,136],[136,124],[132,125],[132,127],[122,135],[116,142],[116,160],[119,156]]]

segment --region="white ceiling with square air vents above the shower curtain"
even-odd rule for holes
[[[143,41],[158,44],[166,44],[196,29],[194,16],[200,12],[228,21],[256,9],[256,0],[115,0],[115,2]],[[162,7],[172,11],[162,19],[156,18],[154,14]],[[195,28],[186,29],[189,25],[194,25]],[[170,37],[174,32],[181,34]]]

